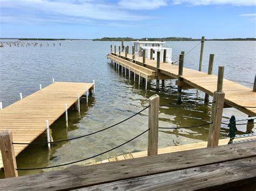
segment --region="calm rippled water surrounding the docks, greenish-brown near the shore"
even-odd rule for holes
[[[39,44],[41,41],[39,41]],[[69,128],[65,127],[65,117],[56,121],[51,129],[53,139],[66,139],[85,135],[111,124],[122,121],[134,112],[148,105],[151,95],[160,96],[160,104],[176,103],[177,87],[175,81],[165,80],[156,92],[155,81],[149,81],[147,91],[145,84],[138,86],[138,76],[134,83],[122,76],[107,63],[106,55],[110,45],[120,46],[120,42],[100,41],[61,41],[61,46],[52,46],[53,41],[42,41],[43,46],[17,47],[5,46],[0,49],[0,101],[3,106],[19,100],[19,93],[28,96],[39,89],[39,84],[48,86],[52,77],[56,81],[92,82],[96,81],[96,95],[89,98],[89,104],[81,103],[80,116],[76,111],[69,111]],[[168,43],[173,53],[188,52],[198,44],[197,41],[175,41]],[[130,43],[125,43],[130,45]],[[198,69],[200,46],[185,56],[185,67]],[[255,41],[206,41],[203,59],[203,71],[207,72],[209,54],[215,54],[213,73],[217,74],[218,66],[225,66],[225,78],[253,87],[256,72]],[[186,103],[203,103],[204,93],[196,90],[183,90],[183,101]],[[44,167],[72,162],[109,150],[137,136],[147,129],[147,110],[115,128],[97,133],[90,137],[54,144],[51,151],[45,145],[28,146],[17,157],[19,168]],[[160,108],[160,127],[182,127],[203,124],[210,121],[211,107],[204,105],[194,109]],[[224,109],[223,121],[231,115],[237,118],[247,117],[235,109]],[[238,126],[238,133],[246,132],[246,125]],[[248,131],[251,129],[247,128]],[[253,129],[255,131],[255,129]],[[221,136],[227,135],[228,129],[221,128]],[[193,129],[159,131],[159,147],[197,143],[207,140],[208,126]],[[37,142],[44,141],[38,138]],[[133,140],[117,150],[103,154],[91,160],[80,162],[85,165],[129,152],[143,151],[147,148],[147,134]],[[61,169],[63,167],[54,168]],[[45,169],[43,171],[52,171]],[[19,175],[43,172],[21,171]],[[3,177],[3,173],[0,174]]]

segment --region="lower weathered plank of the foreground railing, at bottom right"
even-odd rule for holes
[[[187,168],[77,190],[198,190],[242,189],[256,182],[256,158]],[[253,187],[256,189],[256,186]],[[253,189],[253,190],[254,190]]]

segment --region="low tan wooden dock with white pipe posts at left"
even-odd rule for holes
[[[55,82],[49,86],[24,97],[8,107],[0,110],[0,131],[10,130],[16,143],[31,143],[46,128],[65,112],[65,104],[70,108],[78,100],[78,93],[82,97],[90,90],[93,83]],[[28,145],[14,145],[17,156]],[[0,168],[3,167],[0,152]]]

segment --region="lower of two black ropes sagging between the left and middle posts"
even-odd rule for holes
[[[17,170],[17,171],[29,171],[29,170],[37,170],[37,169],[45,169],[45,168],[55,168],[55,167],[60,167],[60,166],[65,166],[65,165],[71,165],[71,164],[75,164],[75,163],[77,163],[77,162],[82,162],[82,161],[84,161],[84,160],[92,159],[92,158],[98,157],[99,155],[102,155],[102,154],[105,154],[105,153],[107,153],[107,152],[113,151],[113,150],[115,150],[116,148],[118,148],[118,147],[120,147],[120,146],[123,146],[123,145],[125,145],[125,144],[131,142],[132,140],[138,138],[139,136],[143,135],[145,132],[147,132],[147,131],[149,131],[149,130],[150,130],[150,129],[147,129],[146,131],[140,133],[140,134],[137,135],[136,137],[134,137],[134,138],[128,140],[127,142],[125,142],[125,143],[123,143],[123,144],[121,144],[121,145],[118,145],[118,146],[116,146],[116,147],[114,147],[114,148],[111,148],[110,150],[107,150],[107,151],[102,152],[102,153],[100,153],[100,154],[96,154],[96,155],[94,155],[94,156],[92,156],[92,157],[88,157],[88,158],[85,158],[85,159],[82,159],[82,160],[77,160],[77,161],[69,162],[69,163],[62,164],[62,165],[48,166],[48,167],[39,167],[39,168],[17,168],[16,170]]]

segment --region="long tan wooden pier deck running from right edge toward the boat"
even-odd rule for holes
[[[157,68],[157,60],[145,58],[145,62],[143,63],[143,56],[136,56],[136,61],[132,62],[132,55],[127,54],[127,57],[125,57],[124,52],[121,52],[120,56],[111,53],[107,55],[107,58],[111,59],[113,62],[120,63],[122,66],[127,66],[126,68],[130,66],[133,68],[140,66],[140,70],[146,75],[152,73],[151,79],[161,79],[160,77],[158,78],[158,75],[164,75],[165,79],[179,78],[179,66],[170,63],[160,62],[160,67]],[[146,72],[147,70],[149,70],[149,72]],[[152,70],[155,73],[152,72]],[[184,67],[183,75],[180,77],[183,81],[178,83],[183,89],[199,89],[211,96],[213,96],[214,91],[217,90],[218,77],[216,75],[209,75],[204,72]],[[256,116],[255,91],[226,79],[223,81],[223,91],[225,93],[225,107],[233,107],[244,112],[248,116]]]

